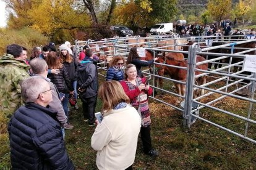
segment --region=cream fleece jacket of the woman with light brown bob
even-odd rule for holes
[[[105,114],[91,143],[98,151],[98,169],[126,169],[134,163],[140,123],[137,110],[130,105]]]

